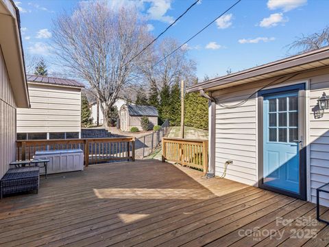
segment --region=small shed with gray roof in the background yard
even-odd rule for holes
[[[125,104],[120,108],[120,128],[129,131],[132,127],[141,127],[141,118],[147,117],[151,126],[158,125],[158,110],[154,106],[136,106]]]

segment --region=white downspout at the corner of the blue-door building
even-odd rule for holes
[[[203,89],[199,90],[202,97],[208,99],[208,115],[209,115],[209,130],[208,130],[208,155],[209,166],[206,178],[215,177],[215,148],[216,148],[216,99],[212,97],[211,92],[207,95]]]

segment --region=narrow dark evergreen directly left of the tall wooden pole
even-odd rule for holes
[[[180,84],[175,83],[170,91],[170,117],[169,122],[172,126],[180,126],[181,98]]]

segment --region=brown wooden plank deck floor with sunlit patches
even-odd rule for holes
[[[1,200],[0,246],[329,244],[329,226],[315,220],[315,204],[201,176],[136,161],[42,178],[38,194]]]

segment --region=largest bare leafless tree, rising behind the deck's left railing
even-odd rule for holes
[[[134,57],[149,40],[135,9],[112,10],[107,1],[85,1],[73,14],[64,12],[54,21],[53,50],[62,66],[88,82],[101,102],[106,126],[119,92],[138,78],[144,54]]]

